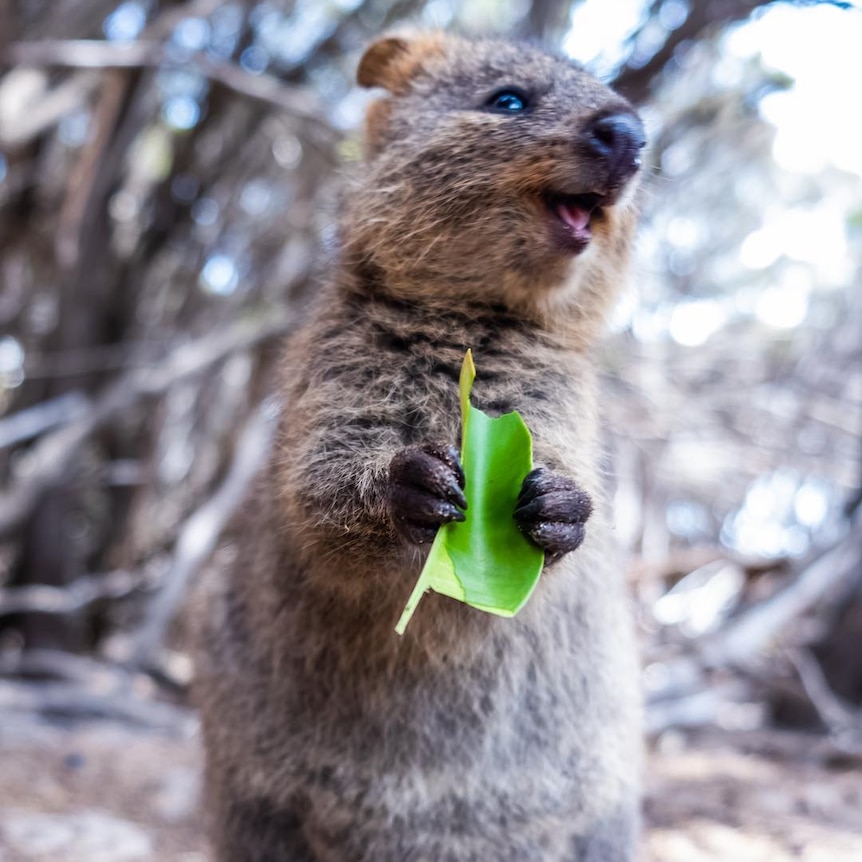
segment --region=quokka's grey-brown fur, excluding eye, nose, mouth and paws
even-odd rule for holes
[[[600,184],[579,136],[631,109],[568,62],[439,34],[376,43],[359,78],[391,95],[209,606],[197,685],[218,859],[628,862],[637,668],[588,348],[625,276],[633,184],[578,256],[540,195]],[[481,110],[506,85],[539,94],[529,116]],[[388,468],[406,446],[457,444],[468,347],[477,406],[519,410],[536,463],[596,512],[516,618],[429,594],[399,638],[427,548],[393,528]]]

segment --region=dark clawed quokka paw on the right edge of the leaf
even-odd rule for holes
[[[554,562],[584,541],[584,524],[593,511],[589,494],[577,483],[539,467],[521,485],[515,520]]]

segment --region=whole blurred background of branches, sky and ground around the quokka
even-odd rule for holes
[[[648,127],[600,359],[650,858],[862,858],[862,11],[752,0],[0,0],[0,856],[206,858],[185,599],[404,22]]]

